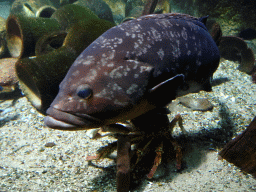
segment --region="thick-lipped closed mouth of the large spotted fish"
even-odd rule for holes
[[[76,131],[98,128],[103,125],[101,120],[87,114],[71,114],[53,107],[47,109],[46,113],[44,123],[53,129]]]

